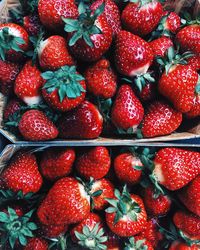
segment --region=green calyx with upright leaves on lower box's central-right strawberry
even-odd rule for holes
[[[132,221],[137,221],[141,208],[135,202],[127,190],[127,186],[123,187],[122,193],[115,189],[116,199],[106,199],[111,205],[105,211],[107,213],[115,213],[114,223],[117,223],[123,216],[128,216]]]

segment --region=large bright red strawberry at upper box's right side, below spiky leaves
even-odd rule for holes
[[[158,84],[159,92],[168,98],[174,107],[183,113],[192,108],[198,74],[188,65],[177,65],[168,74],[161,76]]]

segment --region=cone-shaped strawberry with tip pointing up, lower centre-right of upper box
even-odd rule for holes
[[[129,85],[123,84],[117,93],[111,111],[111,119],[116,127],[132,128],[135,131],[142,121],[144,109]]]

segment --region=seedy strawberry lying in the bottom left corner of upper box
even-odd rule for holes
[[[51,140],[58,136],[55,125],[39,110],[26,111],[18,126],[24,139],[30,141]]]

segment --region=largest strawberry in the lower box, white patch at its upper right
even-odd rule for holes
[[[45,225],[79,223],[90,212],[84,186],[72,177],[58,180],[40,204],[37,215]]]

